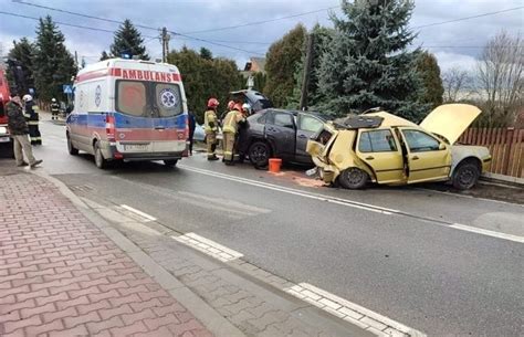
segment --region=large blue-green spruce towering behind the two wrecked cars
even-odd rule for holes
[[[319,88],[324,107],[335,115],[382,107],[419,120],[428,107],[416,70],[416,38],[408,28],[411,0],[342,1],[345,18],[332,17],[335,34],[322,56]]]

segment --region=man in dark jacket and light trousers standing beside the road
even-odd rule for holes
[[[6,110],[9,117],[8,127],[9,134],[13,139],[14,159],[17,160],[17,166],[29,165],[31,168],[33,168],[40,165],[42,160],[36,160],[34,158],[33,149],[31,148],[31,143],[29,141],[29,126],[23,115],[22,102],[20,101],[19,95],[12,95],[11,101],[6,105]],[[25,157],[28,157],[29,162],[23,160],[24,154]]]

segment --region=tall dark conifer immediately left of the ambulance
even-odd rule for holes
[[[76,74],[74,59],[64,44],[64,34],[50,15],[40,19],[33,57],[34,84],[39,98],[62,97],[62,85],[71,84]]]

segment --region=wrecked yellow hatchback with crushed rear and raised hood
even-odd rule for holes
[[[308,175],[347,189],[368,181],[450,181],[457,189],[470,189],[488,169],[491,155],[485,147],[455,141],[480,114],[472,105],[447,104],[420,125],[380,109],[326,123],[307,143],[316,166]]]

